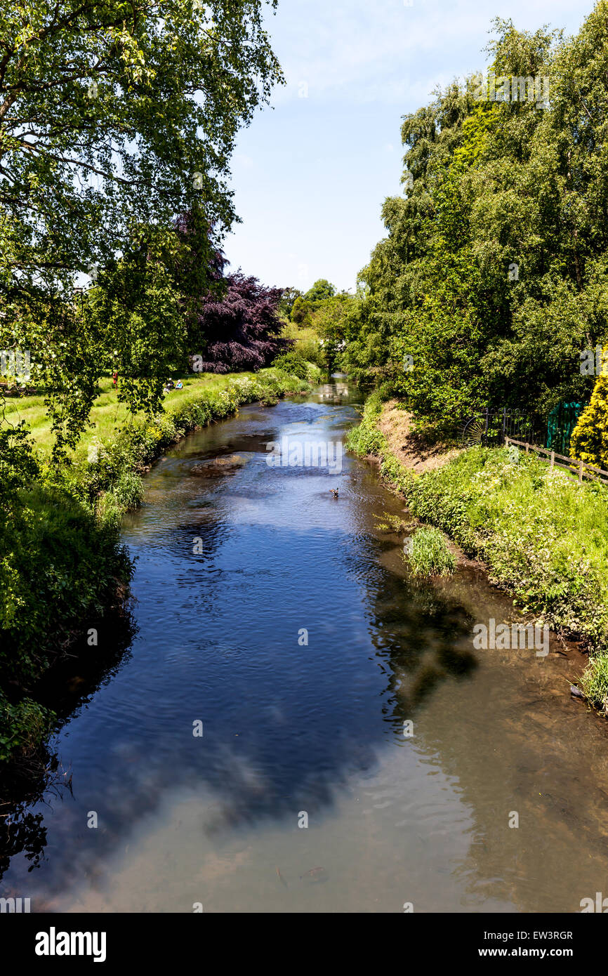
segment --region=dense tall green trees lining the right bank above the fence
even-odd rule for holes
[[[344,362],[419,423],[590,395],[580,352],[608,311],[607,14],[599,0],[568,41],[495,21],[496,74],[547,75],[548,108],[478,102],[471,75],[404,119],[405,197],[385,201]]]

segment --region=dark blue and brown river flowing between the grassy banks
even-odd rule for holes
[[[358,402],[338,383],[250,406],[152,468],[124,526],[138,632],[62,725],[71,792],[27,811],[39,843],[13,844],[1,894],[301,913],[608,895],[608,732],[569,694],[584,659],[476,651],[510,601],[472,566],[409,578],[378,527],[403,503],[340,457]],[[284,437],[342,469],[270,466]]]

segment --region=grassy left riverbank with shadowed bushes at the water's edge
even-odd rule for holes
[[[60,468],[50,463],[42,397],[7,401],[8,418],[31,438],[17,481],[0,493],[0,761],[35,752],[55,718],[36,701],[36,682],[68,648],[95,646],[91,620],[124,603],[132,566],[120,519],[141,501],[144,470],[189,431],[303,386],[273,369],[188,378],[150,420],[128,415],[104,381],[94,427]],[[2,468],[0,458],[0,477]]]

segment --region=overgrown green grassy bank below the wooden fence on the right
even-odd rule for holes
[[[412,513],[441,528],[491,581],[553,630],[583,640],[584,691],[608,712],[608,491],[536,457],[475,447],[417,474],[379,428],[384,404],[368,399],[348,449],[380,460]]]

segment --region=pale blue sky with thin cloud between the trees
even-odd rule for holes
[[[279,0],[267,29],[287,85],[241,133],[225,240],[267,285],[354,288],[402,192],[401,117],[433,88],[483,70],[495,16],[575,33],[592,0]]]

